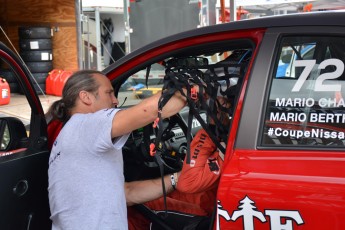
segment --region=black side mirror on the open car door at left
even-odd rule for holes
[[[0,151],[27,148],[28,136],[21,120],[15,117],[0,118]]]

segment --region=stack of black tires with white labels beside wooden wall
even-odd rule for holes
[[[35,90],[45,93],[46,78],[53,69],[53,45],[50,27],[19,27],[20,56],[32,73]]]

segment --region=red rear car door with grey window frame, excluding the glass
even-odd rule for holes
[[[318,33],[322,31],[322,33]],[[340,32],[342,31],[342,32]],[[230,141],[236,141],[233,149],[227,149],[227,165],[218,190],[221,209],[228,215],[219,218],[221,229],[342,229],[345,223],[345,187],[343,146],[339,149],[314,147],[261,147],[260,133],[264,120],[265,101],[274,75],[277,42],[284,34],[326,34],[344,36],[344,27],[297,27],[267,29],[244,99],[237,136],[232,127]],[[283,86],[283,85],[281,85]],[[286,86],[285,86],[286,87]],[[289,87],[287,87],[289,88]],[[244,90],[244,89],[243,89]],[[282,97],[288,97],[288,93]],[[241,98],[239,99],[241,100]],[[262,111],[253,113],[253,111]],[[237,123],[237,122],[235,122]],[[284,122],[283,122],[284,123]],[[285,124],[285,123],[284,123]],[[283,125],[284,125],[283,124]],[[282,127],[282,124],[279,124]],[[321,126],[324,129],[326,126]],[[336,128],[335,128],[336,129]],[[342,128],[340,128],[343,130]],[[305,150],[303,150],[305,149]],[[250,199],[250,202],[245,198]],[[251,204],[257,216],[236,217],[234,213]],[[267,210],[269,212],[267,213]],[[272,210],[277,216],[273,216]],[[221,213],[221,212],[219,212]],[[252,213],[252,214],[253,214]],[[233,216],[233,217],[232,217]],[[247,224],[244,222],[247,221]],[[286,225],[285,225],[286,223]]]

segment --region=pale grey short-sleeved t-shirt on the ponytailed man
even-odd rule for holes
[[[122,147],[111,140],[118,109],[75,114],[54,142],[49,159],[53,230],[128,229]]]

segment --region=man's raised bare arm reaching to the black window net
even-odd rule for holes
[[[129,109],[117,112],[113,119],[112,138],[127,134],[153,122],[158,117],[160,96],[161,93],[157,93]],[[178,113],[185,105],[186,98],[177,91],[163,107],[162,117],[170,117]]]

